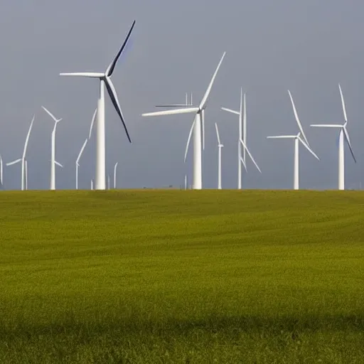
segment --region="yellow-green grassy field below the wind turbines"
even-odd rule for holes
[[[0,363],[364,363],[364,193],[0,193]]]

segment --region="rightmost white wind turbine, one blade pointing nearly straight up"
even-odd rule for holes
[[[343,91],[341,90],[340,83],[338,84],[338,89],[340,90],[341,96],[341,105],[343,105],[343,114],[345,122],[343,124],[312,124],[311,127],[320,127],[320,128],[339,128],[340,132],[338,134],[338,189],[345,189],[345,159],[344,159],[344,138],[348,147],[350,149],[351,156],[356,163],[355,155],[353,152],[353,148],[350,143],[350,137],[348,130],[346,130],[346,125],[348,124],[348,117],[346,115],[346,106],[343,97]]]

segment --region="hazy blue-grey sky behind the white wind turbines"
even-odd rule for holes
[[[338,82],[348,111],[358,164],[346,149],[346,187],[363,178],[364,132],[362,0],[12,0],[0,9],[2,80],[0,153],[5,162],[21,156],[36,113],[28,148],[29,188],[48,188],[50,132],[57,117],[57,187],[74,188],[75,159],[87,137],[97,101],[97,81],[60,77],[60,72],[103,72],[134,18],[132,46],[112,77],[133,144],[111,102],[106,104],[107,169],[119,161],[124,188],[183,185],[191,176],[192,153],[183,164],[191,114],[142,118],[161,102],[200,102],[218,61],[227,55],[206,110],[203,185],[217,186],[218,122],[223,148],[223,188],[237,186],[237,109],[240,86],[247,92],[247,144],[262,169],[250,161],[245,188],[291,188],[293,141],[267,135],[297,132],[287,89],[296,102],[306,136],[321,161],[300,148],[300,187],[336,188],[337,131],[311,123],[343,121]],[[191,150],[192,151],[192,150]],[[95,139],[80,161],[80,188],[94,176]],[[20,166],[4,167],[6,189],[20,188]]]

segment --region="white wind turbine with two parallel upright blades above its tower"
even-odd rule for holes
[[[245,149],[242,150],[242,144],[240,139],[242,139],[245,144],[247,144],[247,103],[245,94],[242,94],[242,87],[240,88],[240,109],[235,111],[228,109],[226,107],[221,107],[222,110],[230,112],[235,115],[239,115],[239,140],[237,141],[237,189],[242,189],[242,161],[246,163],[245,159]]]

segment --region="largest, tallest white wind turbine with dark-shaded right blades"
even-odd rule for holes
[[[119,59],[122,51],[124,50],[127,42],[129,41],[129,37],[132,34],[132,30],[134,28],[135,21],[133,21],[131,28],[129,29],[129,33],[127,34],[127,38],[122,45],[122,48],[119,49],[119,52],[112,60],[112,63],[109,64],[105,73],[60,73],[61,76],[81,76],[81,77],[92,77],[98,78],[100,80],[100,97],[97,100],[97,130],[96,130],[96,176],[95,176],[95,189],[96,190],[105,190],[105,178],[106,178],[106,168],[105,168],[105,94],[104,94],[104,86],[106,86],[107,92],[109,94],[110,99],[112,100],[112,104],[119,115],[119,118],[122,120],[122,124],[124,125],[125,133],[127,134],[127,138],[131,143],[132,140],[129,137],[129,132],[127,130],[127,125],[124,122],[124,116],[122,114],[122,109],[119,104],[119,100],[117,98],[117,92],[111,80],[111,75],[114,72],[115,65],[117,64],[117,60]]]

